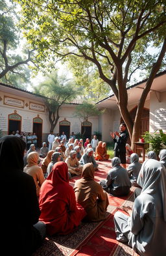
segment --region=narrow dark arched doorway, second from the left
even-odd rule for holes
[[[43,120],[39,117],[34,117],[33,119],[33,133],[36,133],[36,136],[38,137],[37,140],[37,147],[42,147],[42,126],[43,126]]]

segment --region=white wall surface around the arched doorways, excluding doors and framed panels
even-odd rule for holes
[[[43,121],[43,139],[47,139],[47,134],[49,134],[51,126],[49,122],[49,112],[47,110],[47,107],[45,107],[44,112],[29,109],[30,102],[34,102],[38,105],[45,105],[43,99],[27,93],[26,95],[28,95],[30,98],[25,98],[20,96],[20,91],[18,92],[14,90],[14,92],[16,92],[16,94],[11,94],[10,88],[8,88],[8,92],[0,91],[0,129],[3,130],[4,134],[8,134],[8,115],[14,112],[21,116],[22,132],[32,132],[34,117],[40,117]],[[19,96],[17,93],[19,94]],[[23,94],[25,94],[25,92],[23,92]],[[24,107],[21,108],[18,106],[5,105],[4,96],[8,96],[9,98],[15,98],[16,100],[21,100],[21,102],[24,103]],[[75,117],[75,107],[76,105],[74,104],[65,104],[60,108],[60,118],[58,119],[58,123],[54,128],[55,134],[59,132],[59,122],[63,121],[64,119],[71,122],[70,132],[75,132],[75,134],[81,132],[81,122],[78,117]],[[94,132],[99,132],[99,117],[90,117],[88,121],[92,124],[91,134],[93,135]]]

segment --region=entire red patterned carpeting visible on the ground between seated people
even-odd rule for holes
[[[95,180],[99,182],[107,177],[111,162],[99,162],[99,171],[95,171]],[[70,180],[74,186],[74,177]],[[128,246],[117,242],[113,223],[113,214],[117,206],[130,205],[134,201],[134,188],[130,189],[126,197],[112,197],[108,195],[108,218],[105,221],[81,223],[76,231],[66,236],[51,236],[46,238],[43,246],[33,256],[136,256],[137,254]]]

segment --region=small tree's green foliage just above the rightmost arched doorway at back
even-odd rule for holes
[[[88,121],[89,117],[94,117],[95,115],[101,115],[104,110],[98,109],[95,104],[89,102],[83,102],[83,104],[78,105],[75,108],[75,117],[80,119],[80,122]]]

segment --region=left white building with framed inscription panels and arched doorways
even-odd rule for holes
[[[65,132],[67,138],[71,132],[82,132],[82,124],[74,117],[75,107],[80,104],[75,100],[71,104],[64,104],[60,108],[60,119],[54,128],[54,134]],[[3,134],[10,134],[13,130],[21,132],[36,132],[38,147],[47,141],[50,132],[49,111],[41,95],[23,89],[0,83],[0,129]],[[86,123],[86,136],[91,138],[98,132],[98,117],[89,118]]]

